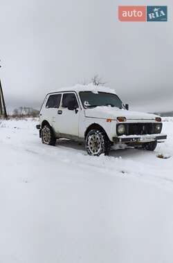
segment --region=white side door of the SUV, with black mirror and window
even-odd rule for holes
[[[60,134],[79,136],[80,106],[75,92],[62,94],[62,103],[57,111],[55,130]]]

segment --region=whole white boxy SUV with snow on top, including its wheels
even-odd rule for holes
[[[92,84],[48,93],[37,129],[44,144],[83,140],[88,154],[96,156],[122,144],[154,151],[167,138],[159,116],[129,111],[115,91]]]

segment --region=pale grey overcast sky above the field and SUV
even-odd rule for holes
[[[122,23],[118,5],[167,5],[168,22]],[[173,110],[172,1],[0,0],[8,109],[98,74],[140,111]]]

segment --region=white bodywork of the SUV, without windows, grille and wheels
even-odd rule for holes
[[[149,142],[152,140],[165,140],[165,134],[130,134],[130,135],[118,135],[116,126],[122,124],[148,124],[158,123],[154,114],[146,114],[137,111],[128,111],[127,109],[118,109],[117,107],[102,106],[94,108],[86,108],[82,105],[80,98],[80,91],[91,91],[92,93],[104,92],[116,94],[112,89],[106,87],[95,87],[92,84],[89,85],[76,85],[70,89],[60,89],[54,93],[48,93],[44,99],[42,109],[39,114],[40,129],[42,129],[44,123],[48,123],[55,133],[56,138],[73,138],[76,140],[84,140],[86,132],[92,125],[98,125],[104,129],[109,140],[112,143],[130,143],[130,142]],[[66,93],[74,93],[78,100],[78,109],[69,110],[62,107],[62,97],[60,101],[60,107],[58,108],[46,108],[46,103],[51,95]],[[125,117],[126,121],[118,121],[118,117]]]

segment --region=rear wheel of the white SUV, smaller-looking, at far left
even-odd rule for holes
[[[42,143],[55,146],[56,138],[50,125],[44,125],[41,132]]]

